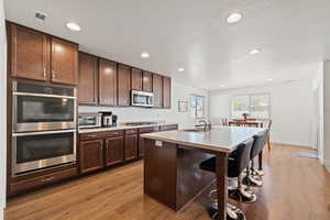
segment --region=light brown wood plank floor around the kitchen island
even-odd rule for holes
[[[298,148],[266,151],[258,200],[243,205],[248,220],[330,219],[330,174]],[[138,162],[46,188],[9,201],[6,220],[193,220],[209,219],[207,191],[179,213],[143,195],[143,163]]]

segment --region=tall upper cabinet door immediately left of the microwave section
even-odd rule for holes
[[[118,106],[130,106],[131,68],[118,65]]]

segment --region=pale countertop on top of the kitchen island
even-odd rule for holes
[[[240,143],[265,130],[266,129],[261,128],[217,127],[209,132],[178,130],[147,133],[142,134],[141,136],[144,139],[170,142],[195,148],[232,152]]]

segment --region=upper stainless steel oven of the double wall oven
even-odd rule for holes
[[[14,81],[12,90],[13,132],[76,128],[75,88]]]

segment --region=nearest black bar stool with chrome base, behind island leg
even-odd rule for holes
[[[238,148],[232,152],[229,156],[228,161],[228,177],[239,179],[239,187],[231,191],[231,194],[238,195],[241,201],[255,201],[256,196],[251,195],[249,191],[244,191],[244,188],[241,185],[241,174],[249,166],[251,148],[253,144],[253,139],[249,139],[245,142],[241,143]],[[199,167],[207,172],[216,173],[216,157],[211,157],[200,163]],[[217,193],[217,190],[212,190],[210,196]],[[213,199],[217,202],[217,200]],[[209,215],[212,219],[218,217],[218,210],[216,208],[211,208],[209,210]],[[227,220],[245,220],[245,215],[239,208],[227,204]]]

